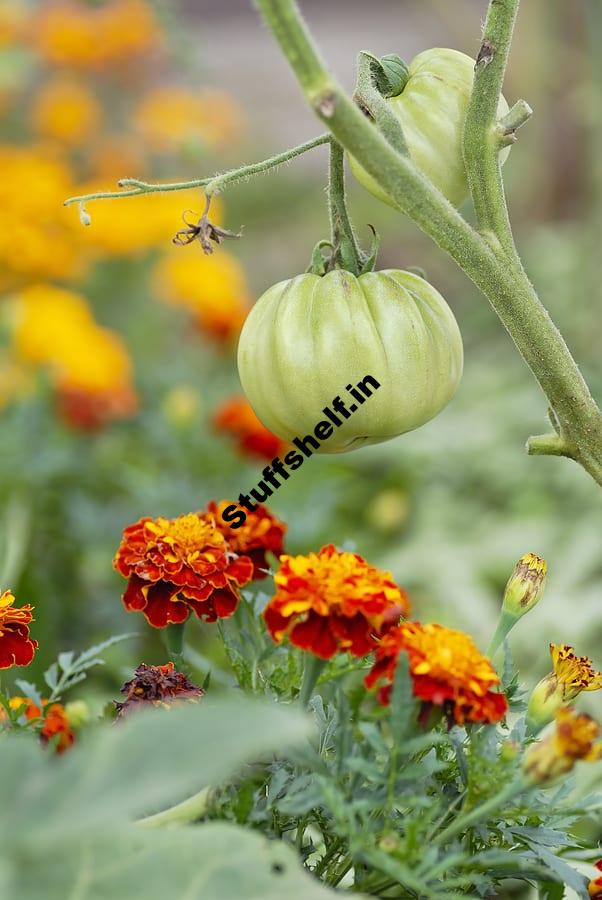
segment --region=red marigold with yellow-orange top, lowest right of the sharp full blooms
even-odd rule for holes
[[[486,656],[462,631],[442,625],[402,622],[380,641],[366,687],[381,681],[379,700],[388,704],[400,653],[407,653],[414,696],[442,706],[450,720],[498,722],[508,709],[504,694],[492,688],[500,679]]]

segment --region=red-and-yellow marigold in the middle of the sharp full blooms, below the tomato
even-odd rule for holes
[[[365,656],[376,639],[407,615],[407,595],[357,553],[332,544],[307,556],[281,556],[277,591],[264,618],[276,643],[330,659],[337,651]]]

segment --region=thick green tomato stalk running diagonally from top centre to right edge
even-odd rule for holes
[[[485,294],[554,409],[563,455],[578,461],[602,485],[602,413],[522,267],[496,252],[346,96],[320,59],[294,0],[255,3],[317,116],[399,209]],[[512,12],[505,2],[499,7]]]

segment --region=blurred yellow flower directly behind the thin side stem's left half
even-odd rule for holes
[[[103,189],[106,184],[94,181],[79,185],[74,193],[87,194]],[[195,200],[197,198],[198,191],[195,191]],[[186,205],[186,197],[181,191],[142,194],[119,202],[90,203],[88,212],[92,222],[85,229],[83,240],[89,249],[110,256],[133,256],[162,244],[169,245],[182,227],[182,212]],[[77,211],[73,208],[70,211],[79,225]],[[215,220],[213,215],[212,220]]]

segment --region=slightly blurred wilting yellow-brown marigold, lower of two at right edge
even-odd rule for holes
[[[585,713],[570,706],[556,710],[556,724],[543,740],[531,744],[525,753],[523,770],[537,784],[554,781],[570,772],[575,764],[602,759],[600,726]]]

